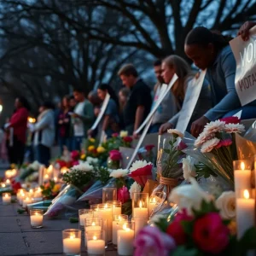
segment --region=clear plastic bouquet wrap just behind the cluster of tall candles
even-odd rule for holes
[[[111,178],[107,184],[103,184],[97,180],[83,195],[79,197],[78,201],[89,201],[90,204],[102,202],[102,189],[106,187],[116,187],[115,179]]]

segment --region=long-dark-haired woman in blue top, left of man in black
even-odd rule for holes
[[[119,132],[119,99],[108,84],[100,84],[97,88],[97,94],[102,102],[104,102],[108,94],[110,96],[98,131],[104,131],[107,137],[112,137],[113,133]],[[91,136],[92,132],[93,130],[89,130],[88,135]]]

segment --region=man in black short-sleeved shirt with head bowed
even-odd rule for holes
[[[122,83],[131,90],[124,110],[125,130],[130,135],[137,137],[134,131],[139,128],[150,112],[151,92],[143,79],[139,78],[137,70],[132,64],[121,67],[118,75]]]

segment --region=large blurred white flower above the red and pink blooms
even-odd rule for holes
[[[190,177],[189,181],[190,184],[172,189],[168,200],[176,203],[180,209],[187,209],[188,213],[192,215],[192,208],[199,210],[201,208],[201,201],[212,201],[212,195],[203,191],[194,177]]]

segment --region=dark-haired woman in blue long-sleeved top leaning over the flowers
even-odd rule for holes
[[[185,53],[201,70],[207,69],[211,85],[212,108],[195,120],[191,133],[197,137],[209,121],[241,112],[241,119],[256,117],[256,102],[241,108],[236,93],[236,60],[230,49],[230,38],[211,32],[206,27],[195,27],[185,39]]]

